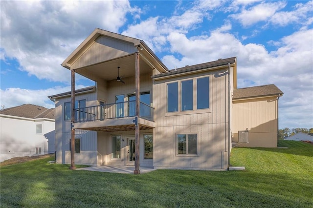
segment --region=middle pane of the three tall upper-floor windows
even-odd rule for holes
[[[181,82],[181,110],[193,109],[193,82],[192,80]]]

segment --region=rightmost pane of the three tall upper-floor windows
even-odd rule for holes
[[[197,79],[197,109],[209,108],[209,77]]]

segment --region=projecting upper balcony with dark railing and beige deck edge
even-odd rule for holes
[[[152,129],[154,107],[140,102],[137,118],[140,129]],[[94,131],[127,131],[135,129],[135,101],[75,108],[74,126]]]

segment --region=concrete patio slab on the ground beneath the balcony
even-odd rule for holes
[[[111,173],[125,173],[125,174],[134,174],[134,166],[89,166],[81,167],[76,170],[89,170],[89,171],[99,171],[99,172],[111,172]],[[153,170],[153,167],[140,167],[140,173],[147,173]]]

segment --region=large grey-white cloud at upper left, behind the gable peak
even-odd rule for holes
[[[130,11],[128,1],[1,1],[1,59],[16,58],[39,79],[67,82],[60,63],[94,28],[117,32]]]

